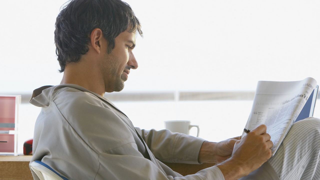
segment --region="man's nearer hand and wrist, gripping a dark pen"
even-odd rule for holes
[[[248,175],[271,157],[273,143],[266,131],[265,125],[250,131],[235,143],[231,158],[217,165],[226,180]]]

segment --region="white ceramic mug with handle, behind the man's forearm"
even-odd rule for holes
[[[164,127],[174,133],[183,133],[183,134],[189,135],[190,129],[192,127],[196,127],[198,129],[197,137],[199,137],[199,133],[200,133],[199,125],[190,125],[190,124],[191,124],[191,121],[164,121]]]

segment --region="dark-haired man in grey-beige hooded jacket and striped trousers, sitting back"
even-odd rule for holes
[[[270,160],[273,143],[264,125],[241,140],[236,137],[219,143],[167,130],[135,128],[103,95],[121,91],[130,70],[138,68],[132,53],[136,32],[142,35],[140,22],[120,0],[72,0],[64,7],[55,30],[60,72],[64,72],[61,84],[36,89],[30,101],[42,107],[35,125],[32,161],[41,160],[68,179],[320,177],[318,119],[294,125]],[[312,138],[292,143],[301,128],[308,131],[300,138]],[[312,151],[305,151],[306,147]],[[291,150],[294,153],[288,152]],[[160,160],[219,164],[182,177]]]

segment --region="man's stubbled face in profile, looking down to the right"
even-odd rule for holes
[[[100,63],[106,85],[106,92],[121,91],[128,79],[130,69],[137,69],[138,63],[132,53],[135,47],[136,33],[124,31],[115,39],[115,48],[111,53],[105,49],[105,58]]]

